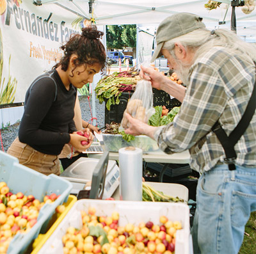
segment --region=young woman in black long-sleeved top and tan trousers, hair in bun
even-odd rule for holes
[[[81,35],[71,35],[61,46],[64,55],[60,63],[29,86],[19,137],[8,149],[20,164],[45,175],[60,175],[58,155],[65,144],[78,152],[90,147],[90,129],[82,130],[88,138],[76,133],[74,106],[77,88],[92,83],[93,75],[108,68],[106,51],[99,40],[102,35],[95,26],[83,28]],[[87,145],[81,141],[87,141]]]

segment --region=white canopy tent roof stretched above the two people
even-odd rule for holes
[[[233,0],[234,1],[234,0]],[[241,3],[241,0],[236,0]],[[220,8],[207,10],[207,0],[33,0],[38,8],[45,4],[56,4],[86,20],[93,20],[97,26],[116,24],[140,24],[139,26],[158,26],[174,13],[190,12],[200,15],[209,29],[230,28],[232,20],[231,0],[221,0]],[[244,14],[241,7],[236,7],[237,35],[256,35],[256,12]],[[138,37],[138,36],[137,36]],[[95,83],[99,81],[95,79]],[[93,89],[94,93],[94,89]],[[93,116],[95,116],[95,95],[93,94]]]

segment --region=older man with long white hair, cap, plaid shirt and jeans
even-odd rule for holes
[[[152,61],[163,54],[186,88],[152,68],[141,67],[141,77],[179,99],[179,114],[152,127],[126,113],[125,132],[156,139],[167,154],[189,149],[190,166],[200,172],[194,252],[238,253],[256,210],[255,46],[232,31],[209,31],[191,13],[163,20],[156,40]]]

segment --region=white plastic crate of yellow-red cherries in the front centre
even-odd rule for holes
[[[131,202],[115,200],[78,200],[69,210],[67,216],[45,242],[38,254],[63,253],[62,237],[69,226],[80,229],[83,225],[81,210],[88,211],[95,207],[97,216],[111,216],[112,212],[119,213],[119,225],[152,221],[159,224],[159,217],[164,215],[169,220],[180,221],[182,229],[177,230],[175,241],[175,254],[188,254],[189,251],[189,207],[184,203],[168,202]],[[150,211],[150,212],[148,212]]]

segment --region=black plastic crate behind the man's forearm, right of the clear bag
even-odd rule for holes
[[[166,106],[166,109],[171,110],[173,107],[179,107],[181,102],[175,98],[171,99],[170,95],[162,90],[153,88],[153,106]]]

